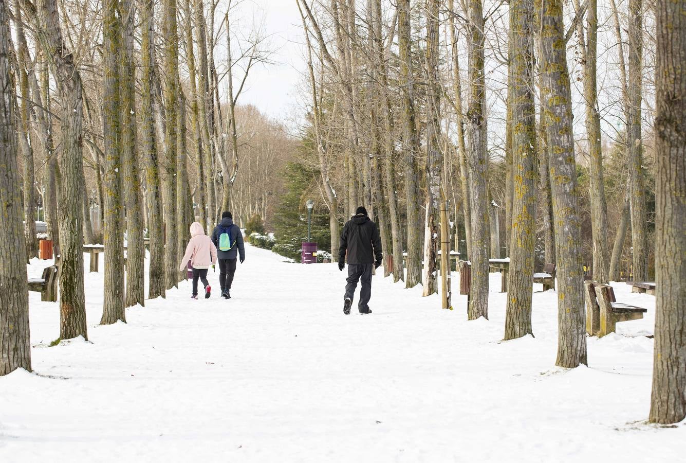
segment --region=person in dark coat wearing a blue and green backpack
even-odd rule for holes
[[[217,247],[219,258],[219,286],[222,289],[222,297],[230,299],[229,291],[236,272],[236,258],[240,258],[241,264],[246,260],[243,233],[233,223],[230,212],[222,212],[222,220],[212,232],[212,242]]]

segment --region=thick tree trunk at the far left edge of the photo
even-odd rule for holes
[[[21,223],[21,183],[17,166],[14,82],[10,77],[8,3],[0,3],[0,376],[17,368],[31,371],[29,296]]]

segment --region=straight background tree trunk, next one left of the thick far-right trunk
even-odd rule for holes
[[[631,203],[631,245],[633,247],[633,279],[648,280],[648,215],[646,185],[643,180],[643,144],[641,142],[641,98],[643,81],[643,2],[629,0],[628,27],[628,106],[626,141],[629,153]]]

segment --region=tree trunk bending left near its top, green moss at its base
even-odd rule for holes
[[[73,54],[62,39],[56,1],[40,0],[37,11],[28,13],[38,18],[38,40],[60,95],[60,339],[88,339],[81,204],[86,184],[82,161],[83,84]]]

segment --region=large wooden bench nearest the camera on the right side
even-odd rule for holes
[[[586,332],[602,337],[615,332],[620,321],[639,320],[647,309],[617,302],[615,290],[608,284],[584,282],[586,297]]]

